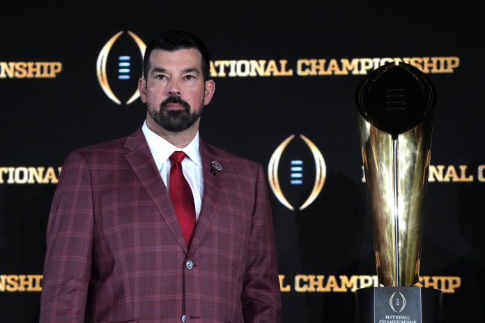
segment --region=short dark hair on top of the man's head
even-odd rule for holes
[[[204,81],[209,79],[210,57],[206,45],[187,31],[167,31],[158,34],[151,42],[148,43],[145,49],[145,56],[143,58],[143,77],[148,77],[150,70],[150,54],[154,49],[162,49],[169,52],[175,52],[178,49],[198,49],[202,56],[201,70]]]

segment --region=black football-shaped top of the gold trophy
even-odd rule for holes
[[[387,63],[370,72],[356,94],[362,118],[394,138],[431,115],[436,100],[426,74],[403,62]]]

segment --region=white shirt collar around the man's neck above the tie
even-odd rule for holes
[[[148,147],[150,148],[153,159],[155,159],[155,164],[159,169],[176,150],[182,150],[185,152],[185,155],[187,155],[190,160],[194,162],[194,164],[202,167],[201,152],[199,150],[199,132],[195,134],[194,139],[192,139],[188,145],[180,149],[163,139],[161,136],[155,134],[155,132],[153,132],[150,128],[148,128],[148,125],[146,125],[146,120],[143,123],[141,130],[145,135],[146,141],[148,142]]]

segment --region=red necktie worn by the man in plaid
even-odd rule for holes
[[[184,158],[185,152],[183,151],[176,151],[170,156],[169,195],[182,229],[183,238],[189,246],[195,228],[195,204],[192,189],[182,172]]]

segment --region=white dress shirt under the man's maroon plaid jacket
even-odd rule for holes
[[[194,139],[192,139],[187,146],[180,149],[151,131],[146,125],[146,120],[143,127],[141,127],[141,130],[145,135],[148,147],[153,155],[153,159],[155,159],[155,164],[157,165],[158,171],[160,171],[160,176],[162,176],[162,180],[167,189],[169,187],[171,168],[171,162],[169,160],[170,155],[176,150],[181,150],[187,155],[188,158],[185,157],[182,161],[182,170],[185,179],[189,182],[190,188],[192,189],[195,203],[195,219],[197,221],[197,219],[199,219],[199,213],[201,212],[203,196],[203,175],[201,152],[199,150],[199,132],[197,132]]]

